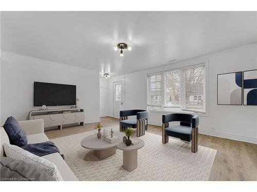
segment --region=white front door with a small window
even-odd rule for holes
[[[113,83],[113,116],[119,117],[124,110],[124,81]]]

